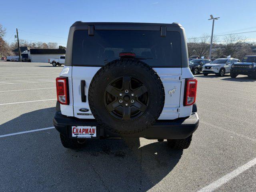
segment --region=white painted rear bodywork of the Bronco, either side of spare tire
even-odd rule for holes
[[[83,66],[66,66],[63,68],[60,76],[68,77],[70,104],[60,105],[62,114],[82,119],[94,119],[88,103],[88,89],[94,74],[99,69],[100,67]],[[154,68],[154,70],[160,76],[165,90],[165,103],[159,120],[190,116],[192,106],[183,106],[185,79],[193,78],[190,68]],[[81,99],[81,80],[86,81],[86,102],[82,102]],[[80,108],[88,108],[89,111],[80,112]]]

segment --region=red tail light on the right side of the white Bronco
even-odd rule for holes
[[[197,80],[196,79],[187,79],[186,80],[186,92],[185,92],[185,98],[184,98],[184,106],[189,106],[196,102],[196,88],[197,88]]]

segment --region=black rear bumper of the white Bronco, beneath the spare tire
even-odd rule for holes
[[[68,138],[72,138],[72,126],[96,126],[97,138],[110,137],[143,137],[147,139],[184,139],[192,135],[198,128],[199,118],[197,113],[192,113],[187,118],[178,118],[176,120],[157,120],[156,123],[136,134],[117,134],[103,127],[100,127],[94,119],[78,119],[67,117],[57,111],[53,118],[53,124],[56,130]]]

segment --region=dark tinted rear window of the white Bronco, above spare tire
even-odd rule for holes
[[[119,59],[119,53],[132,52],[152,67],[181,67],[179,32],[132,30],[76,30],[73,39],[73,66],[103,66]]]

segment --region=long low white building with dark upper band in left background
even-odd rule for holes
[[[64,49],[30,49],[31,62],[48,63],[50,58],[59,58],[66,54]]]

